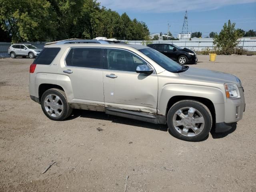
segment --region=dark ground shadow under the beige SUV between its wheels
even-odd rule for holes
[[[72,119],[75,119],[78,117],[107,120],[107,121],[111,121],[113,123],[138,126],[138,127],[155,129],[155,130],[160,130],[160,131],[165,131],[165,132],[167,132],[167,130],[168,130],[167,125],[152,124],[152,123],[147,123],[147,122],[143,122],[143,121],[139,121],[139,120],[133,120],[133,119],[118,117],[118,116],[114,116],[114,115],[108,115],[105,112],[79,110],[79,109],[74,109],[72,112],[72,115],[69,116],[68,118],[66,118],[65,120],[72,120]]]

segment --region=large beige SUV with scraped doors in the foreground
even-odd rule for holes
[[[30,66],[30,97],[51,120],[72,109],[168,124],[182,140],[232,128],[245,109],[240,80],[231,74],[182,66],[141,45],[46,45]]]

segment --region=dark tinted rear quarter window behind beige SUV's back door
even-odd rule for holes
[[[59,47],[44,48],[33,64],[50,65],[59,51]]]

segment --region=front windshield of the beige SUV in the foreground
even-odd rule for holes
[[[170,72],[176,72],[176,71],[182,70],[182,66],[180,64],[166,57],[164,54],[158,52],[157,50],[154,50],[152,48],[145,48],[145,49],[140,49],[139,51],[142,52],[144,55],[148,56],[158,65],[160,65],[162,68]]]

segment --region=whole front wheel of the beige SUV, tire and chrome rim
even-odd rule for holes
[[[181,100],[170,108],[167,124],[169,131],[176,138],[200,141],[206,138],[212,128],[212,114],[198,101]]]

